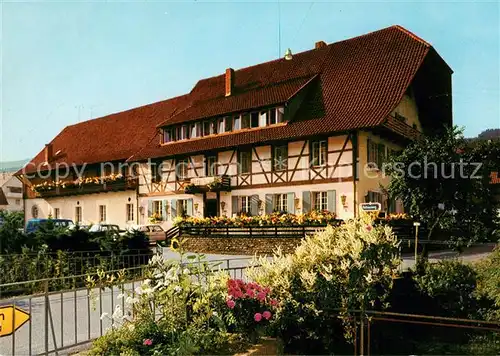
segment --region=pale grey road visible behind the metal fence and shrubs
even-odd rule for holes
[[[491,249],[469,249],[458,256],[466,262],[476,261],[485,257]],[[178,258],[168,249],[163,251],[165,258]],[[457,254],[451,251],[433,252],[429,255],[431,261],[456,258]],[[232,269],[233,278],[243,277],[243,268],[251,261],[252,256],[244,255],[215,255],[206,254],[205,259],[216,263],[220,261],[221,268]],[[407,269],[414,265],[414,257],[405,255],[402,268]],[[132,291],[139,283],[124,285],[126,291]],[[99,293],[101,293],[99,295]],[[110,318],[101,320],[100,316],[106,312],[113,314],[118,304],[124,309],[124,300],[118,299],[119,288],[99,291],[95,289],[89,295],[85,289],[71,292],[57,292],[49,295],[50,308],[45,309],[44,296],[16,297],[0,301],[0,306],[15,305],[31,314],[30,321],[16,331],[15,338],[6,336],[0,338],[0,355],[33,355],[45,352],[45,340],[48,338],[49,351],[57,348],[85,343],[99,337],[111,328]],[[48,328],[45,327],[45,313],[47,312]],[[15,353],[13,352],[15,350]],[[68,351],[60,352],[67,354]],[[53,352],[51,354],[54,354]]]

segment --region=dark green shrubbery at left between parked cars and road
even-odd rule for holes
[[[58,289],[73,287],[75,281],[64,277],[85,275],[97,270],[117,270],[148,263],[153,255],[149,240],[139,231],[124,235],[95,236],[88,230],[58,228],[50,219],[36,233],[23,232],[21,213],[3,213],[0,226],[0,285],[52,278]],[[26,285],[23,285],[23,288]],[[41,284],[29,290],[17,286],[3,287],[6,294],[33,293]]]

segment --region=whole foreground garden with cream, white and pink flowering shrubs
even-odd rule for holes
[[[102,316],[114,328],[90,354],[236,354],[264,337],[275,342],[271,354],[352,354],[374,311],[484,320],[496,332],[372,320],[372,354],[498,354],[500,251],[474,265],[421,260],[404,274],[398,252],[392,229],[364,216],[291,254],[256,258],[240,280],[186,255],[181,241],[180,261],[154,256],[142,285],[120,296],[125,307]],[[109,280],[103,273],[88,287]]]

